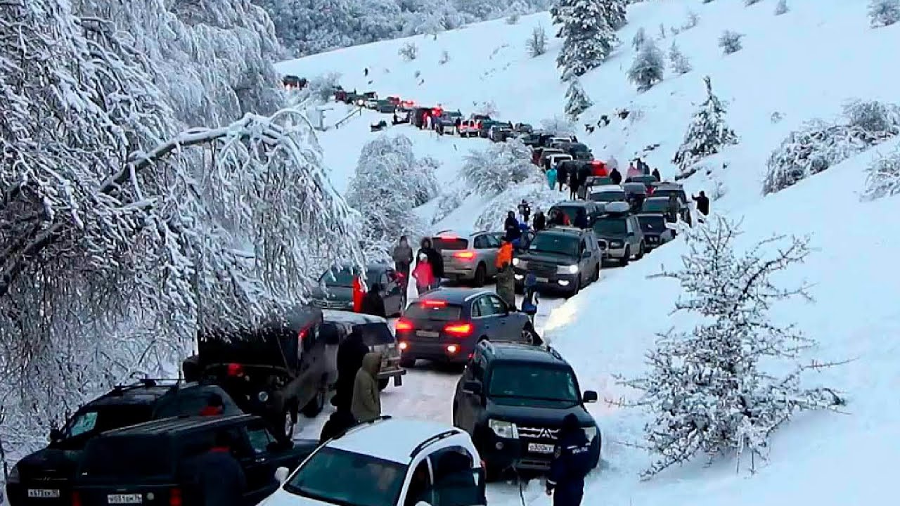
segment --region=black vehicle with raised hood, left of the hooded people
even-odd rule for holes
[[[220,385],[243,411],[290,439],[298,413],[312,418],[322,411],[337,375],[321,324],[319,308],[301,306],[243,330],[202,329],[197,354],[182,363],[184,377]]]

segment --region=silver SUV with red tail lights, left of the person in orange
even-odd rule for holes
[[[489,231],[441,230],[431,244],[444,258],[444,276],[483,286],[497,276],[500,240]]]

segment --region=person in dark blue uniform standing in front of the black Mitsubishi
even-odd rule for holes
[[[590,464],[590,441],[578,418],[569,413],[563,418],[559,446],[547,474],[547,495],[554,496],[554,506],[581,506]]]

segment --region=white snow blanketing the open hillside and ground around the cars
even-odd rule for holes
[[[714,91],[727,101],[727,120],[741,138],[737,146],[707,160],[726,190],[724,197],[713,202],[714,212],[744,219],[742,244],[773,233],[811,236],[817,248],[814,256],[806,265],[779,275],[779,280],[813,282],[815,303],[779,305],[774,317],[779,322],[796,321],[817,339],[821,346],[814,350],[815,357],[853,359],[810,378],[842,390],[849,402],[846,414],[806,414],[792,420],[773,439],[770,463],[752,476],[735,473],[734,461],[725,459],[709,467],[698,462],[672,469],[640,482],[638,472],[648,465],[649,456],[627,443],[641,442],[644,415],[604,402],[591,406],[604,431],[605,447],[604,464],[590,476],[586,504],[895,502],[889,485],[896,474],[893,462],[900,456],[900,402],[896,400],[900,276],[893,266],[900,255],[900,237],[893,223],[900,200],[860,203],[859,195],[864,167],[877,151],[887,151],[896,141],[779,194],[761,197],[766,158],[788,131],[815,117],[833,116],[851,98],[900,102],[896,93],[900,76],[889,57],[900,47],[900,25],[869,28],[866,4],[789,0],[790,12],[775,16],[775,0],[751,6],[738,0],[644,2],[629,9],[620,49],[582,77],[595,104],[582,116],[584,122],[596,122],[600,114],[608,114],[612,123],[593,134],[581,131],[580,139],[599,158],[619,160],[659,143],[659,148],[645,153],[645,159],[660,167],[665,177],[674,175],[668,160],[703,98],[701,77],[712,77]],[[698,26],[673,36],[670,28],[685,23],[689,9],[698,14]],[[667,32],[658,41],[661,49],[668,50],[677,41],[694,71],[680,77],[667,71],[661,84],[637,93],[626,80],[634,57],[629,42],[641,27],[658,36],[661,24]],[[527,56],[525,41],[538,25],[548,34],[554,32],[549,15],[536,14],[516,25],[481,23],[442,33],[437,40],[429,36],[386,41],[284,62],[280,69],[308,77],[338,71],[347,89],[374,89],[381,95],[443,104],[463,113],[492,102],[504,119],[538,123],[562,113],[565,91],[554,66],[561,41],[551,38],[545,55]],[[717,47],[726,29],[745,34],[743,50],[729,56]],[[398,56],[406,41],[419,46],[418,59],[405,62]],[[442,65],[438,60],[445,50],[449,61]],[[363,76],[363,68],[370,69],[369,77]],[[368,79],[374,80],[373,85],[366,85]],[[632,111],[625,121],[613,116],[622,107]],[[773,113],[782,119],[773,122]],[[359,149],[375,135],[369,132],[369,123],[377,117],[366,113],[338,131],[321,134],[339,190],[346,188],[352,176]],[[446,185],[457,180],[455,171],[462,165],[465,149],[486,145],[484,140],[438,138],[405,126],[389,128],[387,134],[396,132],[410,135],[417,156],[432,156],[444,163],[438,177]],[[723,162],[728,163],[725,169],[720,168]],[[702,175],[687,182],[693,191],[708,192],[711,185]],[[471,197],[452,215],[452,226],[474,220],[482,206],[478,197]],[[598,390],[601,398],[626,394],[613,375],[642,374],[644,354],[653,345],[654,334],[692,323],[689,317],[670,315],[680,293],[677,285],[646,278],[662,265],[679,267],[682,253],[683,244],[676,241],[629,267],[605,271],[601,283],[567,303],[542,307],[548,312],[551,305],[558,305],[541,323],[554,347],[575,366],[585,388]],[[449,420],[455,381],[455,375],[417,369],[401,388],[384,394],[385,411]],[[320,425],[318,421],[313,425]],[[536,483],[530,483],[528,504],[549,504],[540,492]],[[518,491],[509,485],[492,486],[490,493],[491,504],[518,503]]]

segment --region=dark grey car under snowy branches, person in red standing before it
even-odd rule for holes
[[[310,294],[310,304],[320,309],[353,311],[353,282],[359,276],[356,266],[342,264],[331,267],[319,277],[319,286]],[[365,283],[380,285],[384,312],[388,316],[398,316],[403,311],[401,279],[390,264],[368,264],[365,266]]]

